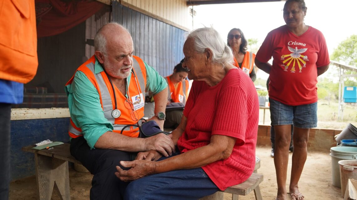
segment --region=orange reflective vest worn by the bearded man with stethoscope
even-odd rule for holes
[[[131,73],[131,79],[129,83],[129,99],[131,102],[134,102],[134,108],[138,107],[136,112],[139,115],[139,119],[144,117],[144,104],[145,104],[145,87],[146,87],[146,68],[144,62],[137,56],[133,56],[133,71]],[[87,60],[84,64],[82,64],[77,70],[83,72],[87,78],[91,81],[91,83],[95,86],[99,93],[100,104],[104,111],[105,118],[112,123],[114,130],[113,132],[120,133],[122,128],[126,125],[135,124],[137,121],[131,119],[130,115],[132,110],[127,109],[124,105],[124,101],[127,99],[125,95],[123,95],[118,88],[114,85],[116,101],[117,101],[117,109],[121,111],[121,115],[118,118],[112,117],[111,113],[115,109],[114,102],[114,93],[112,89],[112,85],[105,74],[105,72],[100,72],[98,74],[94,73],[94,65],[95,65],[95,57],[92,56],[89,60]],[[66,85],[72,83],[73,77],[67,82]],[[137,85],[136,85],[137,84]],[[139,91],[138,91],[139,87]],[[140,98],[140,99],[139,99]],[[135,101],[139,101],[135,103]],[[141,107],[142,105],[142,107]],[[69,125],[69,136],[72,138],[83,136],[82,130],[80,127],[77,127],[72,119],[70,119]],[[126,127],[123,131],[123,135],[129,137],[138,137],[139,136],[139,128],[133,128],[132,126]]]

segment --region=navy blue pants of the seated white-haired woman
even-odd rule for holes
[[[125,200],[197,200],[219,189],[202,168],[182,169],[132,181]]]

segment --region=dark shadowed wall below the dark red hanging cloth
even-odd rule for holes
[[[25,86],[44,86],[48,93],[65,93],[65,84],[82,64],[84,37],[85,22],[59,35],[38,38],[39,66],[34,79]]]

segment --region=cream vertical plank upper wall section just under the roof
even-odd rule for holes
[[[186,0],[121,0],[178,25],[189,27]]]

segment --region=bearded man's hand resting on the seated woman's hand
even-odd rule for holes
[[[175,145],[172,142],[172,135],[165,135],[164,133],[145,138],[145,151],[155,150],[160,152],[165,157],[171,156],[175,152]]]

